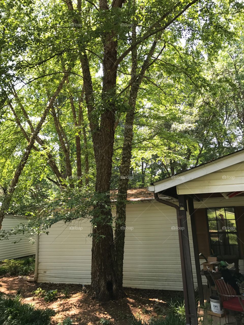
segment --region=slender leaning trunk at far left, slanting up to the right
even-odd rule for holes
[[[57,90],[53,94],[52,98],[50,99],[50,101],[49,101],[49,103],[48,103],[48,105],[46,107],[46,109],[44,110],[39,123],[35,127],[34,132],[33,132],[32,136],[30,138],[30,141],[29,141],[29,143],[28,143],[28,145],[27,145],[27,147],[25,149],[25,153],[24,153],[23,157],[21,158],[21,161],[20,161],[18,167],[16,168],[14,177],[13,177],[13,179],[11,181],[11,184],[10,184],[10,186],[8,188],[7,194],[6,194],[6,196],[5,196],[5,198],[4,198],[3,202],[2,202],[2,206],[1,206],[1,209],[0,209],[0,229],[2,228],[2,222],[3,222],[3,219],[4,219],[4,215],[5,215],[6,211],[9,208],[9,204],[11,202],[13,193],[15,191],[15,187],[16,187],[18,181],[19,181],[20,174],[21,174],[22,170],[24,169],[25,164],[28,161],[28,158],[29,158],[31,149],[34,146],[34,142],[36,140],[36,137],[37,137],[38,133],[40,132],[43,123],[45,122],[45,119],[47,117],[47,113],[48,113],[49,109],[53,105],[53,102],[54,102],[55,98],[60,93],[67,75],[68,75],[68,72],[64,73],[64,77],[62,78],[60,84],[57,87]]]

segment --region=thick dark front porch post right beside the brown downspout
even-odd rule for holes
[[[198,325],[197,306],[195,300],[195,290],[194,290],[194,282],[193,282],[193,275],[192,275],[189,234],[188,234],[188,227],[187,227],[186,197],[185,195],[178,195],[178,198],[179,198],[179,208],[180,208],[180,215],[178,219],[181,225],[180,230],[182,231],[183,258],[185,262],[185,275],[186,275],[187,293],[188,293],[188,300],[189,300],[189,307],[190,307],[190,315],[186,315],[186,317],[189,316],[192,325]]]

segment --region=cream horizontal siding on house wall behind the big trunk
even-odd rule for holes
[[[195,202],[195,207],[207,207],[208,203],[222,206],[222,199],[209,200]],[[241,205],[241,200],[236,205]],[[177,227],[176,210],[156,201],[137,202],[127,205],[126,219],[124,286],[183,290],[178,230],[171,228]],[[189,216],[187,221],[197,287]],[[40,235],[38,282],[90,284],[92,239],[87,237],[90,232],[89,220],[75,220],[69,225],[58,222],[49,229],[48,235]],[[243,271],[243,261],[239,264]],[[205,277],[202,280],[206,283]]]

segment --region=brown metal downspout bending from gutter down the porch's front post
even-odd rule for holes
[[[189,301],[188,301],[188,290],[187,290],[186,274],[185,274],[185,260],[184,260],[184,253],[183,253],[182,232],[180,229],[181,228],[180,208],[177,204],[160,199],[158,197],[158,193],[154,193],[154,198],[157,202],[163,203],[165,205],[171,206],[176,209],[178,235],[179,235],[179,246],[180,246],[180,257],[181,257],[182,284],[183,284],[183,294],[184,294],[184,301],[185,301],[186,324],[190,324],[189,317],[187,317],[187,315],[190,314],[190,306],[189,306]]]

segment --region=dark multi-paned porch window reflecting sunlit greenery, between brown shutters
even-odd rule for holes
[[[234,208],[207,209],[211,254],[238,255]]]

